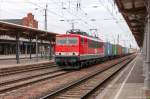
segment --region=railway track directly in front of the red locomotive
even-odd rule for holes
[[[18,88],[26,87],[27,85],[31,85],[40,81],[44,81],[50,78],[58,77],[68,73],[67,71],[62,71],[60,69],[53,70],[50,72],[41,73],[38,75],[30,75],[28,77],[22,77],[14,80],[6,80],[0,82],[0,94],[6,93],[12,90],[16,90]]]

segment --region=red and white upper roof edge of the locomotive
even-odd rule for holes
[[[84,35],[80,35],[80,34],[59,34],[57,36],[78,36],[78,37],[87,38],[87,39],[98,41],[98,42],[103,42],[102,39],[84,36]]]

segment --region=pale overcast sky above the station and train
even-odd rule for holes
[[[113,0],[0,0],[1,19],[21,19],[31,12],[44,29],[44,9],[48,4],[48,31],[64,34],[71,29],[81,29],[93,35],[90,29],[104,41],[136,48],[132,33],[118,12]],[[80,6],[77,7],[77,4]],[[64,20],[64,21],[60,21]]]

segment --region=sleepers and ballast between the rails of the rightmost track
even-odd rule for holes
[[[86,95],[88,95],[92,90],[94,90],[97,86],[102,84],[105,80],[107,80],[111,75],[120,70],[124,65],[128,64],[132,59],[128,58],[124,62],[118,62],[119,64],[114,67],[109,68],[108,70],[98,73],[97,75],[90,76],[90,79],[87,79],[76,86],[72,86],[71,89],[64,91],[58,98],[67,97],[68,99],[77,98],[82,99]],[[101,79],[101,80],[97,80]],[[95,82],[94,82],[95,81]]]

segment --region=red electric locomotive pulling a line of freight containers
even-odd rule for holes
[[[71,31],[70,34],[56,36],[55,62],[63,69],[79,69],[126,54],[127,48],[82,32]]]

